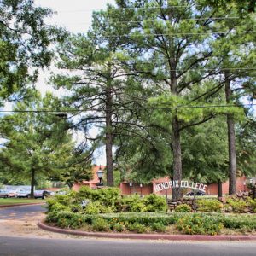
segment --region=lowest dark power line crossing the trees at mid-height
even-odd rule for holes
[[[242,104],[242,105],[204,105],[204,106],[174,106],[174,107],[148,107],[148,108],[136,108],[137,110],[161,110],[161,109],[184,109],[184,108],[242,108],[242,107],[253,107],[256,103]],[[118,111],[130,111],[134,108],[119,108]],[[65,109],[65,110],[0,110],[0,113],[81,113],[81,112],[102,112],[104,109],[88,108],[88,109]]]

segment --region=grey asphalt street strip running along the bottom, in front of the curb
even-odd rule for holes
[[[0,236],[1,256],[255,256],[253,242],[161,242]]]

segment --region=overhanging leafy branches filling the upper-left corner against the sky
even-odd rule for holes
[[[29,96],[27,85],[38,79],[40,67],[49,66],[53,57],[49,45],[63,33],[45,24],[53,13],[36,7],[33,0],[3,0],[0,10],[0,99],[17,101],[26,92]]]

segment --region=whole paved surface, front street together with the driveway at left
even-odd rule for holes
[[[44,207],[0,209],[0,256],[255,256],[255,242],[92,239],[40,230]]]

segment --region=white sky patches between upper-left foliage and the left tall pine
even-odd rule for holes
[[[74,33],[85,33],[88,31],[91,23],[91,16],[94,10],[106,9],[107,3],[114,4],[114,0],[34,0],[37,6],[48,7],[56,13],[51,18],[45,20],[47,24],[64,26],[68,31]],[[56,71],[55,67],[41,72],[38,79],[37,88],[44,95],[47,90],[60,95],[65,92],[55,91],[46,85],[50,72]],[[92,131],[96,132],[96,131]],[[74,137],[79,142],[82,136],[78,134]],[[94,154],[94,163],[97,165],[106,165],[105,148],[100,148]]]

